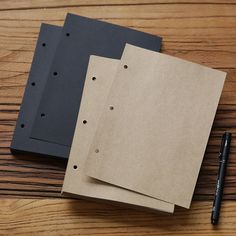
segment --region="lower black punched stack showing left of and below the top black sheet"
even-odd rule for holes
[[[66,157],[67,147],[37,139],[31,139],[30,133],[40,98],[45,87],[50,65],[61,34],[61,27],[42,24],[37,41],[28,82],[25,88],[20,112],[11,143],[13,153],[37,153]]]

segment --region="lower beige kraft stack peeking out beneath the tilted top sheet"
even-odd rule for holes
[[[174,205],[85,175],[84,164],[119,60],[91,56],[62,193],[110,200],[173,213]]]

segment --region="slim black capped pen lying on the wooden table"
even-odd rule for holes
[[[211,223],[213,225],[216,225],[219,220],[220,206],[224,189],[224,179],[229,157],[230,142],[231,142],[231,133],[225,132],[221,141],[221,147],[219,153],[220,164],[219,164],[213,208],[211,213]]]

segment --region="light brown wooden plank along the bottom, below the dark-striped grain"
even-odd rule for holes
[[[235,235],[236,202],[223,202],[219,225],[211,202],[194,202],[174,215],[85,200],[3,199],[0,235]]]

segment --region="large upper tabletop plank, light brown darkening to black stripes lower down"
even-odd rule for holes
[[[89,3],[88,3],[89,2]],[[0,6],[0,193],[60,197],[65,163],[13,157],[9,145],[42,22],[62,25],[73,12],[163,36],[163,52],[228,72],[195,199],[211,199],[222,132],[235,135],[236,4],[234,1],[2,1]],[[225,198],[236,199],[233,139]]]

